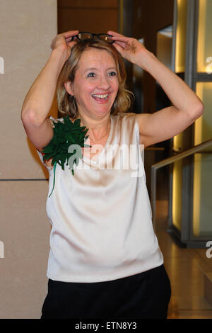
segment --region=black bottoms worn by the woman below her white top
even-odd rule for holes
[[[170,296],[170,280],[163,265],[113,281],[49,279],[41,319],[165,319]]]

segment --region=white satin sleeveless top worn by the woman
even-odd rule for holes
[[[46,204],[52,224],[47,277],[52,280],[111,281],[163,264],[135,113],[110,118],[110,135],[96,161],[83,157],[74,174],[57,164]],[[49,196],[54,171],[47,169]]]

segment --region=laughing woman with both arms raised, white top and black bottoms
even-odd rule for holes
[[[82,149],[74,174],[70,165],[57,165],[55,182],[52,160],[45,162],[49,191],[54,191],[47,198],[52,231],[42,318],[166,318],[170,281],[153,232],[139,144],[148,147],[177,135],[204,106],[134,38],[108,31],[110,44],[107,38],[79,40],[78,33],[52,40],[52,54],[21,115],[42,159],[52,126],[64,121],[47,118],[57,88],[59,110],[72,123],[81,119],[92,146]],[[124,88],[122,57],[149,72],[172,106],[153,114],[124,113],[130,93]]]

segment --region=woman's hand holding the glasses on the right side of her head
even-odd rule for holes
[[[145,69],[145,56],[148,50],[139,40],[125,37],[114,31],[107,31],[107,33],[112,35],[112,39],[114,40],[113,45],[124,59],[133,64],[139,64],[139,66]]]

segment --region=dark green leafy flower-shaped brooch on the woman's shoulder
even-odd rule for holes
[[[69,115],[63,117],[64,123],[59,121],[54,123],[54,136],[52,140],[46,147],[42,148],[43,162],[52,159],[52,165],[54,166],[54,181],[53,188],[55,184],[55,169],[57,164],[61,166],[64,170],[64,164],[69,165],[73,174],[73,164],[78,165],[79,159],[82,159],[82,149],[81,147],[91,147],[86,145],[85,141],[88,138],[86,133],[88,128],[86,126],[81,126],[81,120],[76,119],[74,123],[69,119]],[[52,192],[49,194],[51,196]]]

